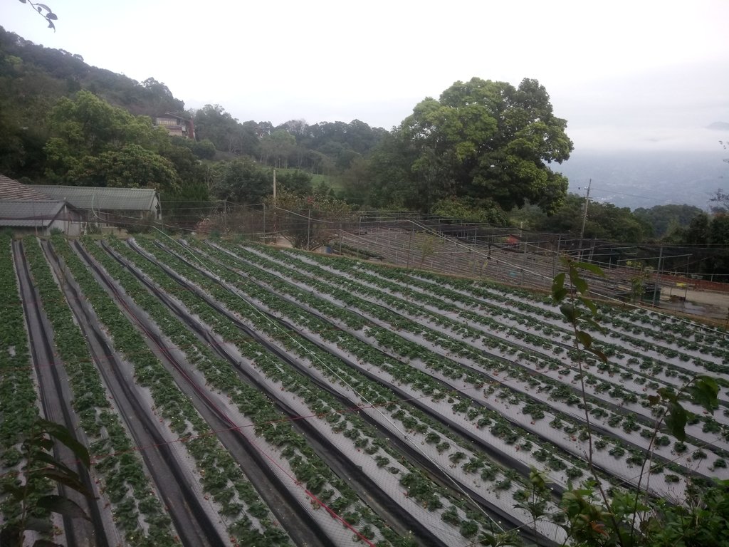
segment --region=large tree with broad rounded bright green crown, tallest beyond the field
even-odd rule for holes
[[[505,211],[529,201],[552,213],[567,190],[566,178],[550,169],[572,151],[565,128],[535,79],[518,88],[480,78],[456,82],[403,120],[395,145],[407,149],[400,156],[408,176],[384,186],[395,195],[408,187],[405,205],[418,209],[468,197],[491,199]]]

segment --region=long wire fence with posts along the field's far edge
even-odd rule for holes
[[[729,281],[729,274],[714,274],[706,280],[694,275],[706,256],[726,255],[727,249],[616,245],[414,212],[289,211],[262,203],[243,206],[225,201],[204,205],[185,202],[184,207],[169,211],[160,226],[169,230],[359,254],[408,268],[486,277],[542,290],[548,290],[561,271],[562,255],[601,265],[606,276],[590,279],[590,286],[601,295],[628,297],[635,292],[639,278],[654,284],[656,298],[660,298],[661,290],[673,287],[729,290],[724,283]],[[130,231],[150,228],[144,221],[139,221],[139,226],[128,222]]]

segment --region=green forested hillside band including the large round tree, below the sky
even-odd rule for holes
[[[156,128],[165,112],[192,120],[195,139]],[[155,187],[165,218],[191,227],[218,200],[264,203],[276,168],[292,206],[295,196],[316,195],[308,203],[585,238],[725,241],[723,217],[696,207],[631,212],[591,202],[585,217],[584,199],[567,193],[560,172],[572,152],[566,126],[537,80],[480,78],[425,98],[391,131],[360,120],[241,122],[219,104],[185,110],[154,77],[136,82],[0,28],[0,173],[23,182]]]

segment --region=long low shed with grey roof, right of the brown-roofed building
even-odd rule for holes
[[[160,195],[154,188],[34,185],[55,200],[73,206],[85,222],[101,228],[144,225],[162,220]]]

